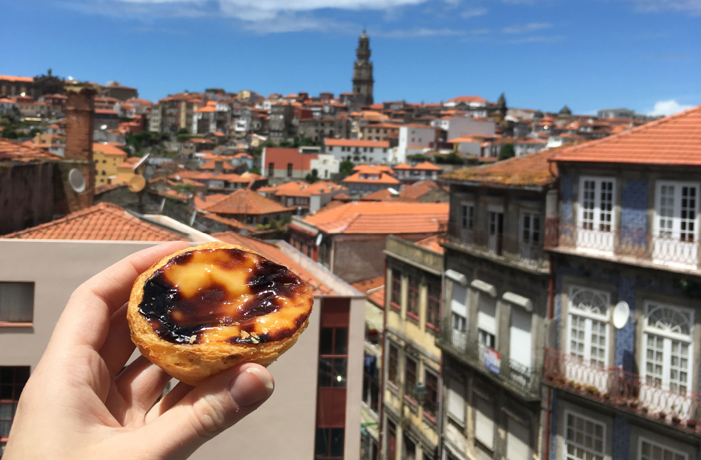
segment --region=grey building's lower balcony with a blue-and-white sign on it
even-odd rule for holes
[[[531,368],[512,359],[502,363],[497,351],[477,340],[469,341],[465,333],[450,327],[442,329],[437,346],[524,400],[540,399],[540,368]]]

